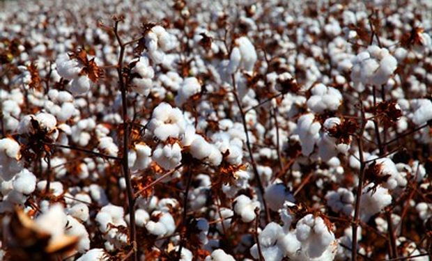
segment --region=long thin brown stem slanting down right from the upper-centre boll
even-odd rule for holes
[[[263,205],[264,205],[264,209],[265,209],[265,221],[267,221],[267,223],[270,223],[270,212],[269,212],[269,209],[267,207],[267,203],[265,202],[265,198],[264,198],[263,182],[261,181],[261,177],[259,177],[258,168],[256,168],[256,162],[254,159],[254,155],[252,154],[252,146],[251,146],[251,143],[249,140],[249,134],[247,132],[247,123],[246,123],[245,111],[243,111],[242,103],[240,102],[240,98],[238,97],[237,86],[236,86],[236,76],[234,74],[231,74],[231,80],[233,81],[233,95],[234,95],[234,98],[236,99],[238,109],[240,110],[240,116],[242,117],[242,123],[243,123],[243,129],[245,129],[246,146],[247,146],[247,151],[249,152],[249,157],[251,158],[252,168],[254,169],[254,179],[255,179],[256,183],[258,184],[258,189],[261,193],[261,199],[263,200]]]

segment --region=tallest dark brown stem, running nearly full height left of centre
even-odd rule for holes
[[[128,196],[128,208],[129,208],[129,216],[130,216],[130,243],[133,247],[133,260],[138,260],[137,253],[137,232],[136,232],[136,223],[135,223],[135,199],[134,193],[132,190],[132,182],[130,179],[130,170],[128,165],[128,148],[129,148],[129,125],[128,122],[128,99],[126,97],[127,93],[127,84],[125,84],[125,79],[123,79],[123,57],[125,56],[125,44],[123,44],[120,36],[118,35],[118,23],[116,21],[114,24],[114,34],[116,35],[116,39],[118,45],[120,46],[120,54],[118,55],[118,64],[117,64],[117,74],[118,74],[118,83],[121,91],[121,104],[122,104],[122,116],[123,116],[123,157],[121,158],[121,165],[123,167],[123,175],[125,177],[126,183],[126,193]]]

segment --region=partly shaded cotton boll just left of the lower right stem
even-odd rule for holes
[[[354,194],[348,189],[339,188],[337,191],[328,191],[325,200],[334,212],[341,212],[346,216],[353,214]]]

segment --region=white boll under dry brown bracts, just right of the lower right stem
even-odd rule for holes
[[[369,221],[371,216],[381,212],[385,207],[392,203],[392,196],[389,194],[388,189],[385,189],[378,185],[373,188],[375,184],[369,183],[363,189],[361,203],[360,203],[360,213],[361,219],[364,222]]]

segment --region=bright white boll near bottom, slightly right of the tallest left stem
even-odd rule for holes
[[[146,230],[157,237],[172,235],[176,231],[176,223],[168,212],[154,211],[151,216],[157,221],[148,221]]]

